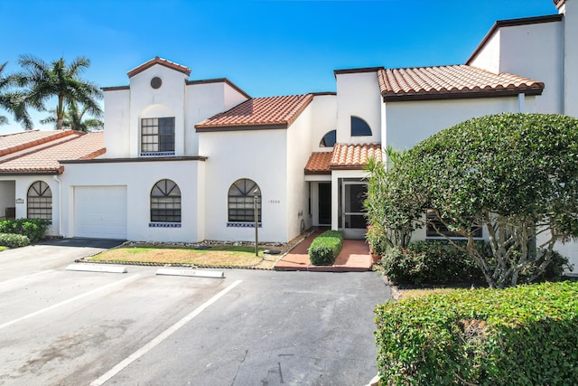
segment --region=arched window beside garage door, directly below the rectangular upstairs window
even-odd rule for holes
[[[181,189],[171,180],[161,180],[151,190],[151,221],[181,222]]]

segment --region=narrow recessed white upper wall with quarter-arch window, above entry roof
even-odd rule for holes
[[[331,147],[319,146],[322,138],[331,130],[337,129],[337,96],[315,95],[310,104],[312,108],[312,123],[306,137],[311,140],[311,153],[329,152]]]

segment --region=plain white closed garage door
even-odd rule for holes
[[[126,240],[126,186],[74,188],[74,235]]]

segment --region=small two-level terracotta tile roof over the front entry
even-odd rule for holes
[[[332,152],[313,153],[305,166],[305,174],[331,174],[331,170],[360,170],[369,158],[383,161],[380,144],[335,144]]]

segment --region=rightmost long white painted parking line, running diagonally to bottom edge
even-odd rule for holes
[[[234,287],[237,287],[242,281],[243,280],[237,280],[237,281],[233,282],[232,284],[230,284],[228,287],[222,289],[217,295],[215,295],[214,297],[211,297],[205,303],[203,303],[199,307],[195,308],[195,310],[192,311],[191,314],[186,315],[180,321],[178,321],[174,325],[172,325],[169,328],[167,328],[166,330],[164,330],[161,334],[159,334],[157,337],[155,337],[148,344],[144,344],[143,347],[136,350],[135,353],[132,353],[131,355],[129,355],[124,361],[119,362],[115,367],[113,367],[107,373],[105,373],[100,378],[98,378],[98,380],[92,381],[89,386],[101,386],[101,385],[103,385],[105,382],[107,382],[112,377],[117,375],[118,372],[121,372],[123,369],[125,369],[126,366],[128,366],[130,363],[135,362],[138,358],[143,356],[145,353],[148,353],[149,351],[154,349],[154,347],[156,347],[158,344],[161,344],[166,338],[168,338],[173,333],[175,333],[177,330],[179,330],[179,328],[181,328],[183,325],[186,325],[187,323],[191,322],[191,320],[193,318],[195,318],[197,315],[200,315],[200,313],[203,312],[205,309],[207,309],[207,307],[209,307],[210,305],[215,303],[217,300],[219,300],[219,298],[225,296],[228,293],[228,291],[230,291]]]

